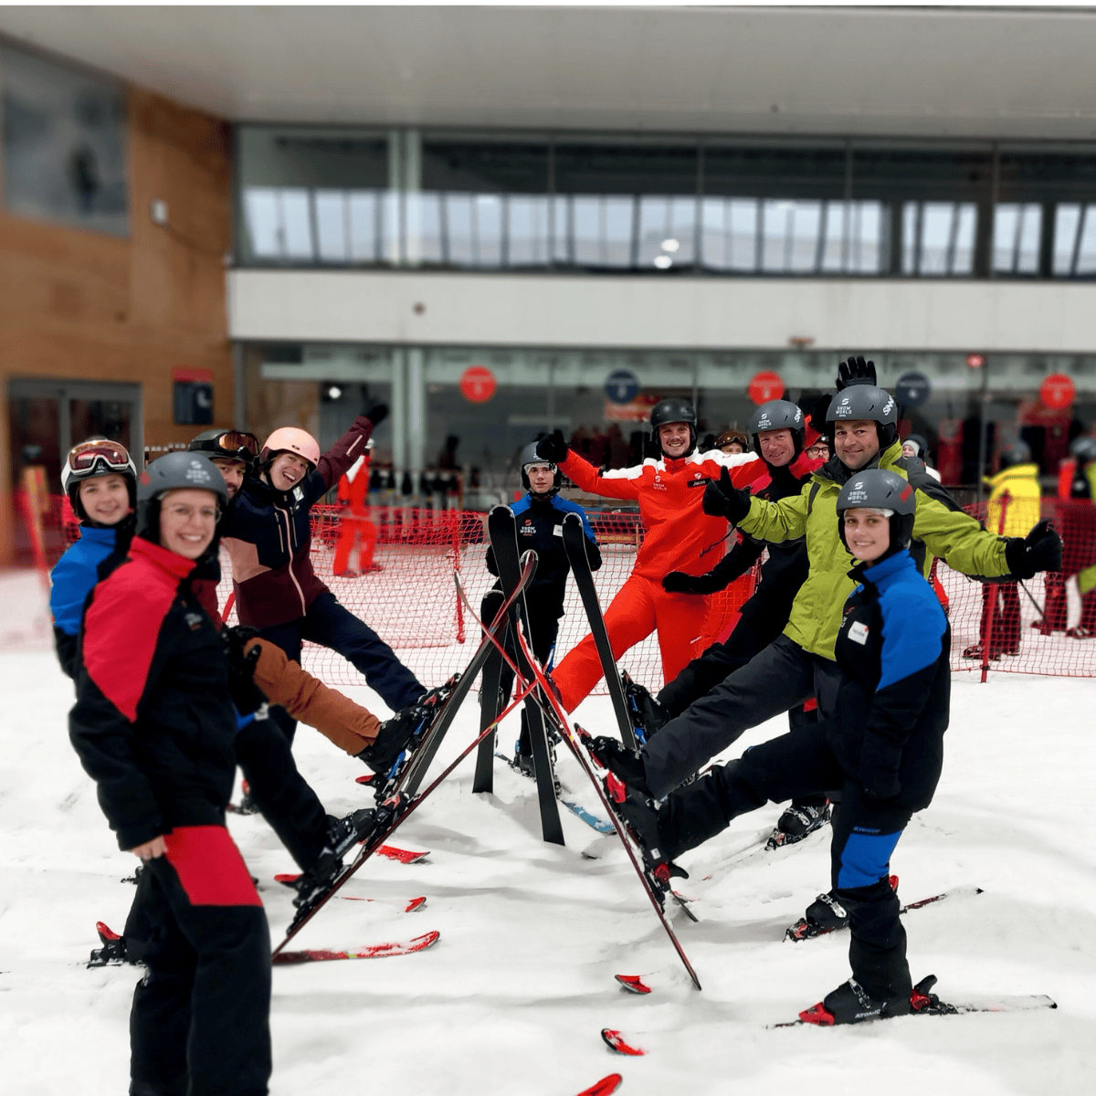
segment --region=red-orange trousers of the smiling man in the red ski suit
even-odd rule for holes
[[[704,632],[708,598],[699,594],[670,594],[658,579],[632,574],[605,610],[613,658],[642,642],[658,629],[663,681],[672,682],[693,658],[693,642]],[[574,711],[602,680],[594,637],[571,650],[552,674],[563,708]]]

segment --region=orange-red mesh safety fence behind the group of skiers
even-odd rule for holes
[[[968,507],[984,520],[985,506]],[[1039,574],[1020,584],[983,584],[939,561],[934,576],[948,602],[951,621],[952,670],[996,671],[1096,676],[1096,506],[1081,500],[1046,499],[1042,514],[1054,522],[1063,540],[1060,574]],[[312,564],[317,574],[352,613],[359,616],[396,650],[427,685],[463,670],[477,642],[477,627],[459,604],[454,574],[479,612],[483,594],[494,582],[483,564],[487,550],[486,515],[470,511],[373,507],[376,532],[372,564],[363,555],[362,573],[334,573],[340,538],[354,535],[354,522],[340,509],[312,511]],[[642,528],[635,513],[591,513],[591,524],[602,547],[603,566],[594,583],[603,608],[631,573]],[[46,515],[47,562],[56,562],[76,538],[77,526],[67,500],[52,500]],[[372,536],[368,538],[374,539]],[[345,550],[341,553],[345,559]],[[219,589],[224,607],[231,594],[227,557],[221,555],[224,579]],[[365,566],[370,566],[365,570]],[[709,598],[704,642],[726,636],[739,606],[753,589],[745,575]],[[235,613],[229,614],[235,621]],[[556,662],[587,631],[582,604],[568,583],[564,616],[560,621]],[[682,638],[688,642],[688,637]],[[700,644],[697,644],[699,648]],[[306,644],[304,665],[331,685],[359,685],[362,676],[335,652]],[[654,636],[633,647],[620,660],[636,681],[652,689],[662,686],[662,667]]]

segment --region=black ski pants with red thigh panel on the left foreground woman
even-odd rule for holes
[[[192,849],[178,870],[168,856],[148,860],[137,886],[147,970],[129,1016],[129,1092],[265,1096],[271,1074],[266,914],[239,853],[235,864],[221,855],[225,841],[231,842],[227,831],[194,829],[222,831],[212,857],[199,852],[196,866]],[[196,883],[195,872],[205,874],[204,882]]]

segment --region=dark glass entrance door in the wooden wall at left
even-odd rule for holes
[[[121,442],[141,469],[140,385],[96,380],[11,380],[8,436],[12,486],[25,465],[43,465],[52,494],[60,494],[61,464],[77,442],[99,434]]]

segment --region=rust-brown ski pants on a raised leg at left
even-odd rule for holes
[[[276,643],[256,638],[247,649],[250,651],[255,643],[260,654],[254,682],[271,704],[281,705],[294,719],[315,727],[349,754],[359,753],[376,741],[380,730],[376,716],[306,673]]]

